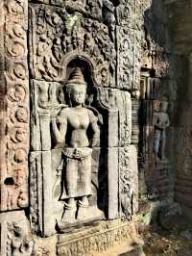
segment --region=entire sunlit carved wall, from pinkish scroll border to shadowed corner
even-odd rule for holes
[[[137,239],[140,1],[4,0],[1,255]]]

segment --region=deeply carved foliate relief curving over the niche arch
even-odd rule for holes
[[[61,81],[64,56],[71,51],[77,51],[77,55],[82,51],[95,63],[98,84],[114,87],[116,52],[108,26],[60,8],[33,6],[31,12],[34,31],[31,68],[35,78]]]

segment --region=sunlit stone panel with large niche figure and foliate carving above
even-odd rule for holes
[[[31,220],[44,236],[94,218],[121,217],[119,150],[131,143],[130,92],[139,89],[140,68],[139,32],[133,24],[121,29],[126,3],[117,15],[118,4],[110,1],[87,1],[90,13],[83,2],[52,4],[30,4]],[[131,75],[121,80],[128,68]],[[136,190],[137,184],[135,198]],[[126,216],[134,213],[129,207],[132,202]]]

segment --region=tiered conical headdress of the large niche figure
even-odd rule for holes
[[[84,81],[84,75],[80,67],[75,67],[71,72],[68,81],[66,82],[66,87],[69,89],[70,86],[80,85],[86,87],[87,84]]]

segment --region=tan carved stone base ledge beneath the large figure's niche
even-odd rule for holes
[[[136,238],[137,227],[134,221],[110,220],[108,223],[103,221],[95,224],[94,227],[86,227],[75,235],[60,235],[57,250],[58,255],[95,255],[97,252],[105,252],[108,247],[120,241],[132,244]]]

